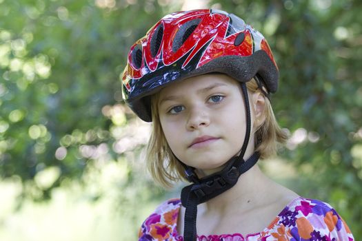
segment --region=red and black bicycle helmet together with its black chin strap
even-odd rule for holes
[[[132,45],[122,74],[125,103],[143,121],[150,122],[152,94],[175,81],[211,72],[228,74],[240,82],[246,109],[246,132],[239,156],[228,160],[216,174],[199,178],[193,167],[179,160],[185,177],[192,182],[181,191],[185,241],[196,240],[197,205],[233,187],[239,176],[259,159],[258,152],[248,160],[243,159],[251,129],[245,83],[254,78],[267,96],[276,92],[279,71],[272,51],[260,32],[234,14],[219,10],[174,12],[163,17]]]

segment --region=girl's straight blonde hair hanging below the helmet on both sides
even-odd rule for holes
[[[246,83],[249,92],[260,92],[257,81],[252,78]],[[183,166],[174,157],[167,143],[159,120],[159,94],[151,98],[152,132],[146,149],[146,163],[152,178],[163,187],[172,187],[173,182],[186,180]],[[265,121],[254,132],[255,151],[259,151],[261,158],[269,158],[276,154],[279,145],[285,143],[288,135],[279,127],[272,110],[270,101],[265,100],[263,111]]]

